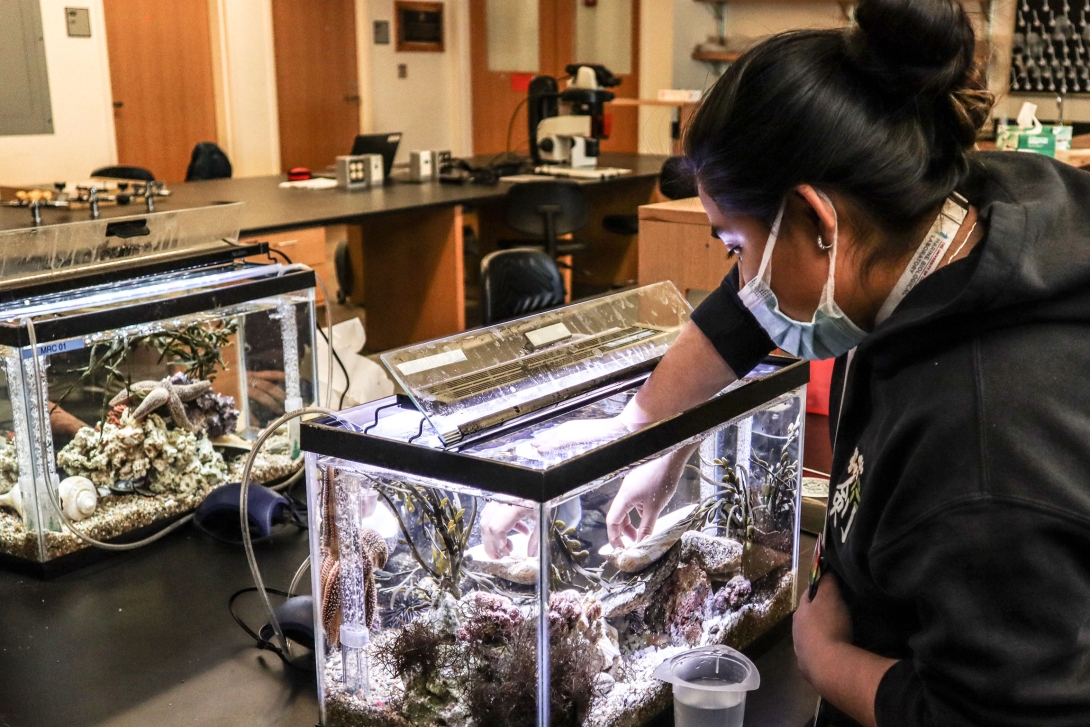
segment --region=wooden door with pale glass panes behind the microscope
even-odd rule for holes
[[[470,56],[473,93],[473,152],[499,154],[502,152],[529,153],[525,82],[537,74],[557,78],[565,75],[565,68],[573,62],[595,62],[597,59],[576,58],[577,3],[584,0],[537,0],[536,38],[519,37],[526,33],[524,23],[508,23],[507,38],[511,45],[531,47],[534,41],[537,54],[534,62],[525,53],[508,53],[489,59],[488,0],[470,0]],[[639,97],[639,37],[640,2],[632,3],[631,65],[627,74],[618,74],[621,85],[614,93],[621,98]],[[521,3],[507,3],[519,7]],[[500,7],[496,3],[495,7]],[[525,3],[522,8],[532,8]],[[508,20],[508,19],[505,19]],[[525,19],[521,19],[525,21]],[[516,58],[518,57],[518,58]],[[513,62],[506,62],[513,61]],[[561,82],[562,85],[562,82]],[[521,105],[521,106],[520,106]],[[606,107],[613,117],[610,138],[602,143],[606,152],[635,152],[639,117],[634,108]],[[514,114],[512,119],[512,114]],[[508,135],[510,132],[510,140]]]

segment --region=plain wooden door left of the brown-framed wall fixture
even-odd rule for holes
[[[324,169],[360,133],[354,0],[272,0],[280,167]]]

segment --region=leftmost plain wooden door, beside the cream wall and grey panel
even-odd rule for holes
[[[217,138],[207,0],[106,0],[104,10],[118,162],[181,182],[193,146]]]

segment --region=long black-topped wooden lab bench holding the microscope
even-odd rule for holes
[[[484,165],[488,157],[475,158]],[[577,256],[574,267],[589,271],[604,287],[634,280],[637,245],[630,237],[602,229],[609,214],[635,214],[654,193],[665,157],[603,154],[603,167],[631,169],[632,173],[601,182],[586,182],[592,215],[577,233],[591,251]],[[398,170],[396,170],[397,172]],[[298,231],[348,225],[353,263],[354,301],[366,306],[367,348],[384,350],[464,330],[465,270],[463,226],[472,222],[488,252],[500,238],[517,237],[504,230],[504,198],[509,187],[496,185],[413,184],[395,181],[386,186],[347,192],[281,189],[283,177],[254,177],[174,184],[171,196],[156,210],[184,209],[221,202],[244,202],[242,238],[274,243],[299,243]],[[101,207],[101,217],[140,215],[143,206]],[[46,225],[88,219],[86,209],[44,209]],[[31,213],[0,208],[0,232],[26,228]],[[282,233],[292,232],[291,235]],[[324,234],[324,233],[323,233]],[[301,247],[300,247],[301,249]],[[284,250],[287,252],[287,249]],[[298,255],[289,255],[295,259]],[[305,255],[302,262],[313,265]],[[332,282],[327,284],[332,289]]]

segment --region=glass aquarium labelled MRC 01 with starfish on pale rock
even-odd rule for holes
[[[81,534],[158,530],[313,403],[314,272],[240,244],[240,221],[223,204],[0,233],[0,562],[49,574],[97,550]],[[302,467],[284,427],[254,481]]]

